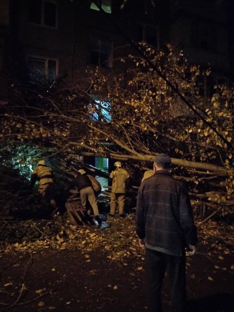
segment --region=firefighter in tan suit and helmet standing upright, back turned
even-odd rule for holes
[[[129,174],[122,168],[120,161],[114,163],[116,169],[110,173],[110,181],[112,182],[111,195],[110,195],[110,217],[115,216],[116,203],[119,205],[119,216],[125,217],[124,202],[126,186],[129,183]]]

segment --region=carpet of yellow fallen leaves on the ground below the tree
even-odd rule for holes
[[[44,231],[47,231],[46,224],[40,222],[38,224],[34,222],[34,225],[44,233]],[[55,225],[52,225],[53,222]],[[110,261],[116,261],[120,265],[126,266],[134,259],[143,259],[144,250],[139,248],[133,214],[125,219],[115,217],[108,220],[108,222],[110,222],[111,227],[105,231],[100,231],[99,228],[95,227],[71,225],[68,221],[58,220],[57,218],[48,222],[48,226],[57,231],[54,235],[46,237],[39,233],[41,235],[40,239],[34,241],[26,242],[24,240],[13,244],[6,242],[5,245],[2,245],[2,249],[0,247],[0,251],[6,253],[17,251],[37,253],[48,248],[49,250],[79,249],[85,255],[85,261],[89,263],[89,254],[101,248],[106,251],[106,256]],[[40,224],[43,227],[40,227]],[[28,226],[30,226],[30,223],[28,223]],[[225,230],[227,232],[224,232]],[[224,227],[222,224],[219,226],[217,222],[210,220],[199,228],[198,235],[204,245],[212,247],[213,253],[220,254],[223,251],[223,254],[227,254],[230,253],[227,244],[233,242],[230,231],[232,232],[230,226]],[[220,237],[222,237],[221,240]],[[210,256],[210,252],[207,255]],[[218,258],[219,260],[224,259],[221,255]],[[187,262],[186,266],[189,265]],[[52,271],[56,271],[55,268],[52,268]]]

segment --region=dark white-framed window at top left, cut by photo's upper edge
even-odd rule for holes
[[[28,0],[28,22],[57,27],[57,3],[54,0]]]

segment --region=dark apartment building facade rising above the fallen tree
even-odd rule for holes
[[[134,42],[157,49],[170,42],[189,62],[210,64],[205,96],[215,83],[233,79],[232,0],[97,1],[106,16],[92,0],[0,1],[0,100],[15,81],[51,84],[85,75],[87,66],[126,71],[115,60],[135,52],[114,23]],[[107,160],[99,162],[92,164],[108,170]]]

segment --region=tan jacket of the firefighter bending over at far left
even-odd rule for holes
[[[54,182],[54,175],[52,169],[46,165],[37,165],[31,175],[31,184],[39,181],[39,188],[43,185],[47,185]]]

